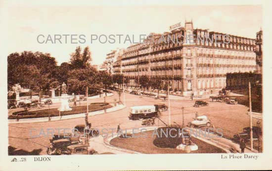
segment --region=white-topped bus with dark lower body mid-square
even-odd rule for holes
[[[158,111],[156,111],[156,107],[154,105],[133,106],[130,109],[129,119],[131,120],[148,119],[158,116]]]

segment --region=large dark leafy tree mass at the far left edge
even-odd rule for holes
[[[7,66],[9,88],[19,83],[32,90],[42,90],[49,88],[56,61],[49,53],[24,51],[8,55]]]

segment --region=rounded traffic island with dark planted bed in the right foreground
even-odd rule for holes
[[[166,128],[163,128],[166,129]],[[170,136],[161,134],[160,128],[156,129],[158,134],[154,133],[154,129],[147,130],[145,132],[134,133],[131,138],[119,138],[119,136],[110,140],[110,145],[118,147],[120,149],[127,149],[144,154],[180,154],[188,153],[187,150],[177,149],[177,146],[181,145],[182,137],[178,136],[178,131],[171,131]],[[170,129],[168,129],[170,130]],[[165,132],[169,133],[170,132]],[[174,137],[177,135],[176,137]],[[128,134],[126,135],[128,136]],[[201,141],[195,137],[191,137],[190,145],[196,144],[197,150],[190,150],[190,153],[226,153],[223,149],[213,146],[209,143]]]

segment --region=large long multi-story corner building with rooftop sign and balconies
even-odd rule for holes
[[[190,35],[195,35],[194,40],[185,41]],[[194,29],[192,21],[171,32],[150,34],[145,43],[127,48],[120,65],[122,73],[131,79],[131,86],[137,86],[135,80],[146,75],[162,79],[183,95],[215,92],[226,87],[227,73],[256,71],[255,39],[228,35],[227,41],[223,35],[227,34]],[[178,41],[164,43],[162,37]],[[202,41],[204,38],[209,39]]]

